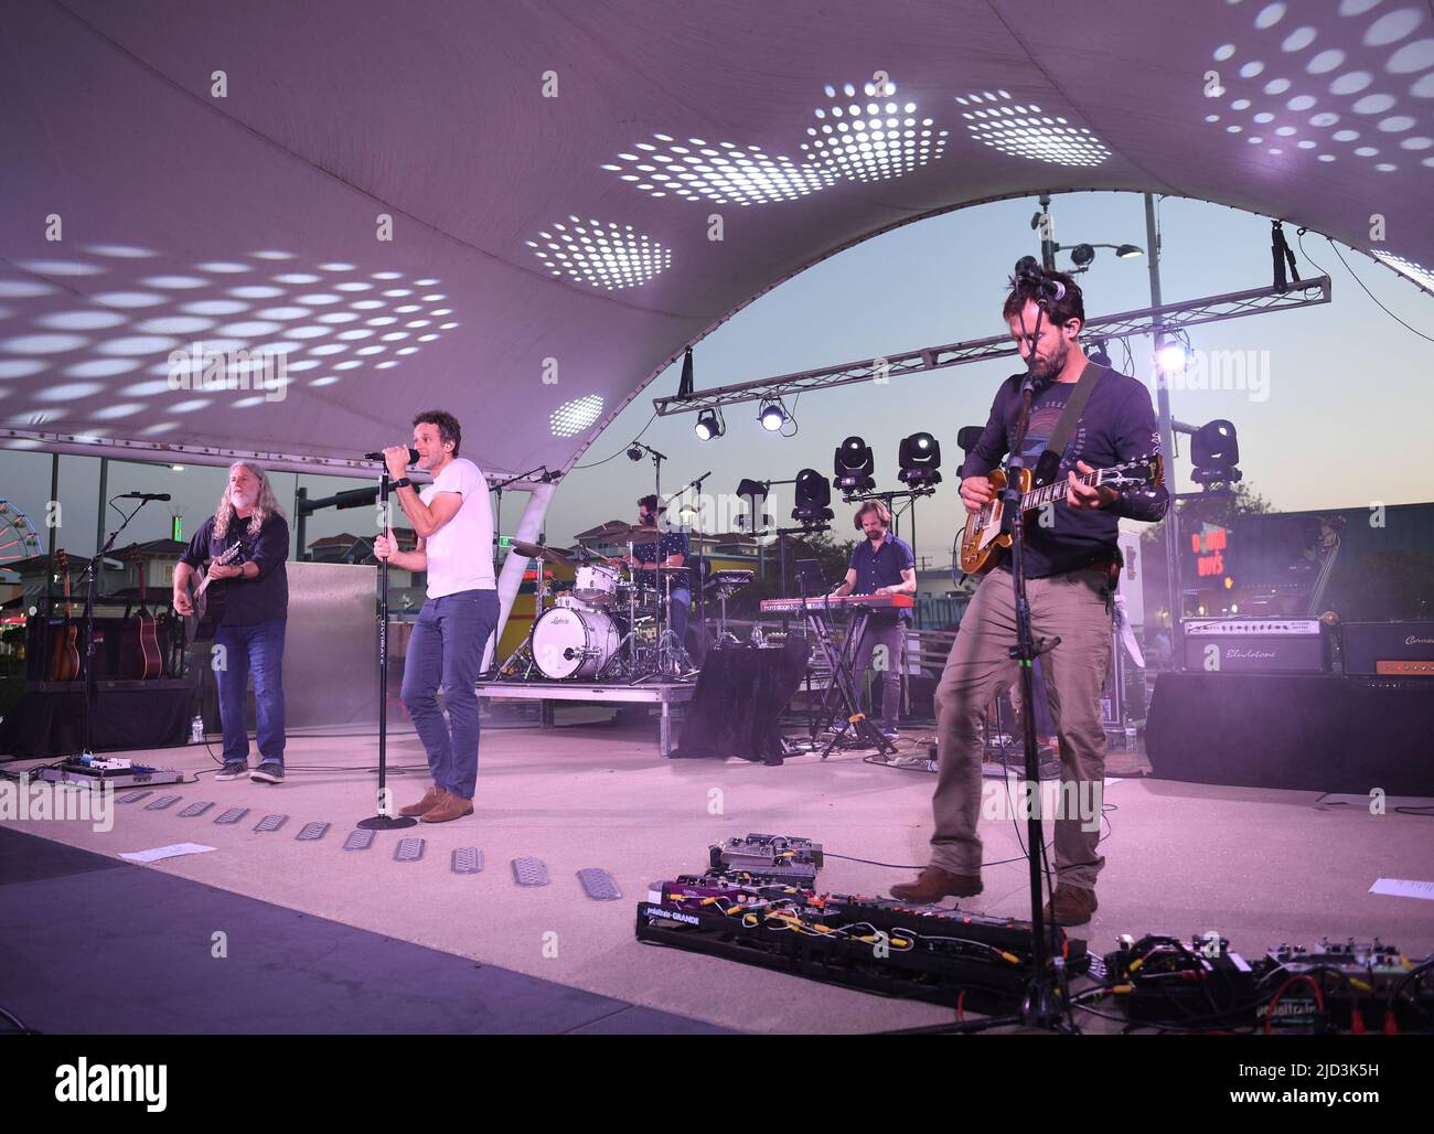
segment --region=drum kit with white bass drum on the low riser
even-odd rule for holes
[[[565,552],[515,539],[513,552],[538,561],[533,626],[503,662],[505,677],[554,681],[684,680],[695,672],[684,644],[667,625],[674,589],[688,586],[685,566],[631,566],[634,549],[655,543],[655,526],[614,520],[578,536],[579,551]],[[627,545],[627,561],[589,551]],[[572,589],[549,604],[545,566],[572,571]],[[654,582],[655,581],[655,582]]]

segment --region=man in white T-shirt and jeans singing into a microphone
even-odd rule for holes
[[[447,823],[473,814],[478,787],[478,674],[488,639],[498,628],[493,575],[493,510],[488,480],[457,454],[457,419],[430,410],[413,419],[416,464],[433,477],[422,492],[404,475],[409,446],[383,450],[399,506],[417,532],[412,552],[399,551],[393,529],[374,540],[379,559],[404,571],[427,572],[427,601],[419,612],[403,667],[403,704],[429,756],[430,787],[400,814]],[[437,691],[449,721],[443,720]],[[452,728],[449,725],[452,723]]]

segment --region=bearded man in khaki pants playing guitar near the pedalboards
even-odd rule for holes
[[[1160,434],[1150,391],[1143,383],[1091,363],[1080,344],[1086,323],[1081,290],[1064,272],[1045,272],[1065,287],[1061,298],[1043,298],[1040,281],[1011,281],[1002,315],[1022,361],[1035,356],[1037,393],[1031,399],[1022,457],[1030,469],[1048,442],[1061,433],[1060,453],[1045,453],[1040,464],[1065,482],[1025,532],[1027,599],[1037,639],[1060,638],[1041,655],[1055,734],[1060,740],[1061,800],[1098,800],[1106,777],[1106,730],[1100,692],[1111,662],[1113,566],[1121,518],[1154,522],[1164,516],[1170,496],[1162,482],[1119,490],[1083,483],[1077,475],[1159,456]],[[1032,340],[1037,307],[1043,314]],[[961,469],[961,502],[979,512],[994,496],[988,475],[1010,453],[1021,410],[1017,374],[1001,384],[981,440]],[[1083,381],[1084,378],[1084,381]],[[1077,393],[1080,390],[1080,393]],[[1067,417],[1073,404],[1074,420]],[[1084,401],[1084,404],[1081,404]],[[931,864],[916,882],[893,886],[905,902],[939,902],[981,893],[982,718],[1002,685],[1014,685],[1017,662],[1015,599],[1010,569],[998,565],[982,579],[961,618],[955,645],[936,687],[938,777],[932,801],[935,830]],[[1097,853],[1098,807],[1094,816],[1055,819],[1057,886],[1045,916],[1058,925],[1084,925],[1096,912],[1096,876],[1104,866]]]

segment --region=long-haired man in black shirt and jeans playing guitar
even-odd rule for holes
[[[238,546],[238,551],[235,551]],[[227,563],[214,561],[229,558]],[[206,599],[214,618],[214,672],[219,685],[224,767],[215,780],[248,776],[284,781],[284,628],[288,621],[288,520],[264,469],[237,460],[219,506],[194,533],[175,565],[174,604],[194,614],[189,581],[211,563]],[[222,651],[222,654],[219,652]],[[250,771],[245,713],[254,675],[255,740],[260,766]]]

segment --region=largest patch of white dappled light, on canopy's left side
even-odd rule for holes
[[[0,384],[6,424],[43,427],[62,413],[98,423],[135,417],[146,419],[141,436],[161,437],[182,430],[172,414],[282,401],[290,384],[331,386],[364,366],[397,366],[397,356],[459,327],[445,318],[453,308],[432,278],[360,278],[356,265],[336,261],[294,270],[293,254],[277,251],[201,261],[185,274],[145,271],[156,255],[92,245],[77,259],[11,262],[30,275],[0,278],[0,383],[40,374],[47,381],[29,397]],[[32,311],[42,300],[50,310]],[[227,356],[224,368],[206,380],[201,360],[214,354]],[[271,387],[251,380],[272,371],[280,356],[282,374]],[[250,389],[252,396],[234,397]],[[176,399],[181,390],[202,396]]]

